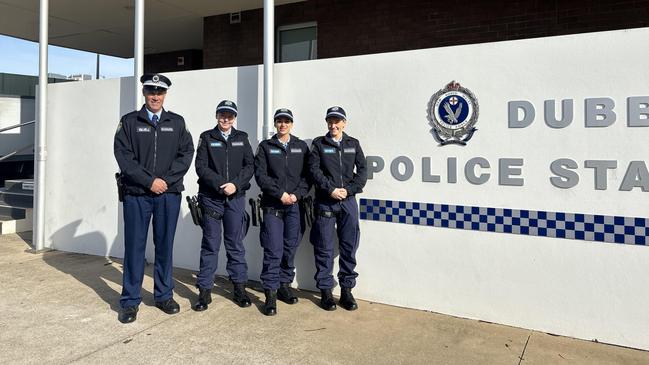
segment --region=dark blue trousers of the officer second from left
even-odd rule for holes
[[[214,274],[216,274],[221,248],[221,232],[223,232],[223,245],[228,258],[225,269],[230,275],[230,281],[237,284],[247,282],[248,265],[243,246],[246,234],[246,198],[242,196],[220,200],[199,195],[199,199],[202,205],[217,211],[223,217],[217,220],[206,214],[203,215],[201,263],[196,285],[201,289],[211,289],[214,286]]]

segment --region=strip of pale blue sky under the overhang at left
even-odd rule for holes
[[[38,75],[38,43],[0,35],[0,73]],[[95,78],[97,54],[57,46],[48,47],[49,73],[88,74]],[[133,75],[133,59],[101,55],[99,77]]]

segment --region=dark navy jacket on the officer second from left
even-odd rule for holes
[[[231,129],[226,141],[217,128],[201,133],[196,149],[198,192],[214,199],[225,199],[221,185],[233,183],[237,191],[231,197],[245,195],[250,189],[254,156],[248,134]]]

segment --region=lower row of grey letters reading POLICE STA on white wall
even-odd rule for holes
[[[368,179],[373,179],[375,174],[381,173],[386,166],[385,160],[380,156],[367,156]],[[464,179],[474,185],[482,185],[492,178],[492,173],[497,174],[498,185],[523,186],[524,160],[522,158],[499,158],[495,167],[484,157],[473,157],[464,163],[458,163],[457,157],[448,157],[445,180],[447,183],[458,182],[458,167],[462,169]],[[410,180],[415,175],[415,163],[409,157],[398,156],[390,161],[390,174],[397,181]],[[440,165],[433,165],[431,157],[422,157],[420,169],[417,172],[422,182],[440,183],[442,174],[438,173]],[[618,162],[615,160],[586,160],[583,169],[592,170],[593,186],[596,190],[608,189],[608,171],[616,170]],[[560,189],[570,189],[577,186],[581,180],[579,164],[568,158],[557,159],[549,165],[549,182]],[[496,170],[496,171],[494,171]],[[583,171],[583,170],[582,170]],[[583,175],[583,174],[582,174]],[[618,187],[620,191],[630,191],[640,188],[649,191],[649,170],[644,161],[631,161],[626,166],[624,178]]]

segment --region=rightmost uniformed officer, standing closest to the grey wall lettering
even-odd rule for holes
[[[325,120],[329,133],[313,140],[309,154],[309,171],[316,193],[316,221],[310,237],[315,252],[315,280],[322,294],[320,305],[325,310],[335,310],[331,289],[334,286],[333,232],[336,226],[340,252],[340,305],[355,310],[358,305],[351,290],[358,276],[354,268],[360,230],[354,195],[361,193],[367,182],[365,155],[358,140],[343,132],[347,124],[343,108],[334,106],[327,109]]]

